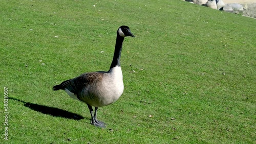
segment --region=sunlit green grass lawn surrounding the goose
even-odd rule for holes
[[[0,5],[1,141],[256,142],[255,19],[178,0]],[[85,104],[52,86],[108,70],[122,25],[136,35],[123,44],[125,89],[116,103],[99,108],[108,124],[99,129]]]

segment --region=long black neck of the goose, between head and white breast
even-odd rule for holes
[[[120,66],[120,58],[121,58],[123,40],[124,40],[124,37],[119,36],[117,34],[115,52],[114,52],[114,57],[113,57],[110,69],[113,67],[116,67],[116,66]]]

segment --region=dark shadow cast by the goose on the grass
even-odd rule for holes
[[[63,118],[68,118],[68,119],[74,119],[74,120],[77,120],[77,121],[84,118],[83,116],[81,116],[79,114],[72,113],[72,112],[62,110],[62,109],[59,109],[59,108],[33,104],[33,103],[29,103],[29,102],[24,102],[24,101],[18,100],[16,98],[10,98],[9,97],[8,99],[15,100],[15,101],[18,101],[18,102],[22,102],[25,107],[28,107],[28,108],[30,108],[34,111],[40,112],[40,113],[49,114],[49,115],[54,116],[54,117],[63,117]]]

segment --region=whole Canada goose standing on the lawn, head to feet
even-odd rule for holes
[[[84,73],[74,79],[63,81],[61,84],[53,86],[53,90],[65,90],[71,98],[86,103],[92,117],[91,124],[94,126],[105,127],[105,124],[97,119],[98,107],[114,103],[123,93],[120,57],[122,43],[126,36],[135,37],[129,27],[119,27],[117,30],[115,52],[109,71]],[[95,107],[94,114],[92,107]]]

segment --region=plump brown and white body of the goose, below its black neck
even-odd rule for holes
[[[87,81],[89,79],[92,79],[91,82]],[[62,85],[77,85],[77,91],[74,88],[65,88],[71,98],[86,102],[93,107],[103,107],[114,103],[121,96],[123,92],[122,70],[120,66],[116,66],[108,72],[82,74],[65,81]]]

